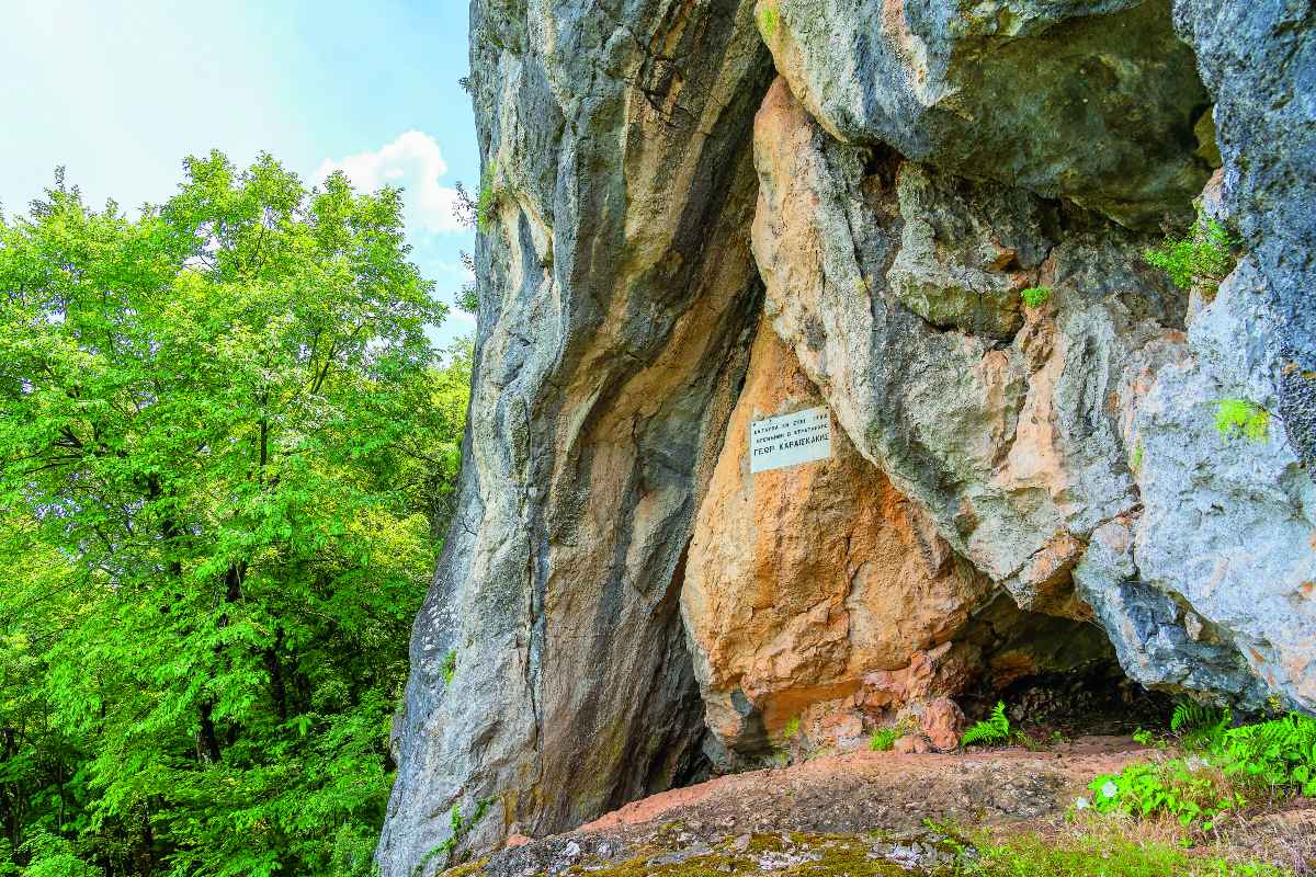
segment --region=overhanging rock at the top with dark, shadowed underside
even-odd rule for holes
[[[1209,172],[1194,155],[1209,99],[1170,0],[759,0],[758,12],[776,68],[840,141],[1126,225],[1187,210]]]

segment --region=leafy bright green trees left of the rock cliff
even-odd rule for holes
[[[0,218],[0,874],[355,874],[470,350],[401,195],[191,158]]]

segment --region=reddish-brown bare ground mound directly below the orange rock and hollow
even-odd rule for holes
[[[1099,773],[1119,770],[1154,751],[1129,738],[1083,738],[1046,751],[1024,748],[948,755],[849,752],[786,768],[717,777],[626,805],[576,831],[515,838],[479,868],[487,877],[588,873],[653,853],[653,868],[740,843],[779,836],[790,856],[801,836],[916,838],[929,822],[1003,830],[1041,827],[1062,817]],[[792,840],[792,838],[795,840]],[[867,848],[865,848],[867,853]],[[774,859],[767,872],[784,872]],[[917,864],[917,863],[911,863]],[[765,873],[767,873],[765,872]],[[704,872],[700,872],[704,873]],[[712,870],[707,873],[715,873]],[[900,870],[899,873],[907,873]]]

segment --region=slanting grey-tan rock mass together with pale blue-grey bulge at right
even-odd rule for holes
[[[1095,613],[1140,681],[1316,707],[1312,481],[1280,418],[1248,442],[1213,417],[1223,398],[1280,406],[1282,339],[1254,259],[1184,333],[1183,296],[1140,259],[1146,238],[1026,193],[929,187],[940,172],[834,141],[782,80],[755,164],[775,331],[953,550],[1020,607]],[[911,185],[929,195],[903,197]],[[978,231],[929,246],[911,225]],[[975,333],[979,305],[950,280],[966,239],[1019,252],[996,271],[1051,289],[1009,337]],[[940,271],[958,320],[904,295],[909,263]]]

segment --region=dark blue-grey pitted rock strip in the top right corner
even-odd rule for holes
[[[1316,7],[1175,0],[1174,17],[1216,99],[1227,210],[1266,280],[1277,413],[1316,465]]]

